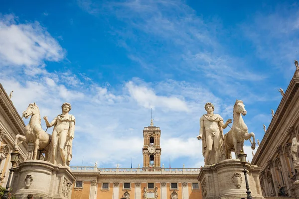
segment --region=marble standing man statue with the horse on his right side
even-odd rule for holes
[[[219,114],[214,114],[214,105],[208,102],[204,105],[207,114],[200,117],[200,131],[197,139],[202,139],[202,154],[205,158],[205,165],[216,164],[223,158],[223,128],[226,128],[231,119],[223,123]]]

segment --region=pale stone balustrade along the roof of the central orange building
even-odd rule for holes
[[[97,168],[97,167],[70,167],[72,172],[75,173],[87,173],[87,172],[99,172],[101,174],[199,174],[199,168]]]

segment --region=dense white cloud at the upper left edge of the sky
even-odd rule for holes
[[[0,16],[0,62],[3,66],[41,66],[59,61],[65,51],[38,22],[20,24],[13,15]],[[40,73],[34,71],[32,75]]]

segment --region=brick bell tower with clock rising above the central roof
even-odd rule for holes
[[[161,168],[160,135],[160,128],[153,126],[151,119],[150,126],[144,128],[144,147],[142,149],[144,156],[143,167]]]

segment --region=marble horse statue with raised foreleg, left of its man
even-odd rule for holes
[[[14,148],[18,149],[18,145],[25,141],[26,143],[32,142],[34,144],[33,149],[33,160],[37,158],[37,150],[40,153],[45,153],[45,160],[48,161],[48,158],[51,157],[51,135],[46,133],[40,122],[40,113],[38,106],[34,103],[29,103],[27,109],[23,111],[23,117],[26,119],[31,115],[28,125],[25,127],[25,135],[16,135],[14,140]],[[18,143],[18,140],[21,142]]]

